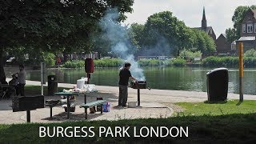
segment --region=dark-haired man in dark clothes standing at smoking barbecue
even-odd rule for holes
[[[128,98],[128,82],[129,78],[137,81],[136,78],[132,77],[130,74],[130,63],[126,62],[125,67],[120,70],[119,73],[119,98],[118,98],[118,106],[126,106],[127,98]]]

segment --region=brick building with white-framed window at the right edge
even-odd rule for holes
[[[245,18],[242,20],[240,36],[236,41],[238,51],[238,43],[243,42],[244,52],[250,49],[256,49],[256,10],[248,10]]]

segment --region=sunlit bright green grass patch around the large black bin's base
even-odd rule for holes
[[[227,102],[179,102],[175,103],[185,109],[179,115],[223,115],[223,114],[249,114],[255,113],[256,101],[228,100]]]

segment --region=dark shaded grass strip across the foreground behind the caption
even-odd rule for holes
[[[45,137],[39,138],[39,126],[50,126],[53,130],[54,126],[94,126],[93,138],[62,138],[62,137]],[[98,127],[110,126],[114,130],[114,126],[136,126],[138,129],[142,126],[156,127],[166,126],[186,126],[189,127],[189,137],[170,136],[165,138],[146,137],[132,138],[134,135],[133,129],[128,130],[129,137],[112,138],[99,137]],[[51,131],[50,134],[53,132]],[[137,133],[138,134],[138,133]],[[251,143],[256,141],[256,114],[227,114],[218,116],[179,116],[174,118],[148,118],[134,120],[119,120],[119,121],[82,121],[82,122],[62,122],[62,123],[30,123],[30,124],[15,124],[15,125],[0,125],[0,143],[162,143],[162,142],[177,142],[177,143]]]

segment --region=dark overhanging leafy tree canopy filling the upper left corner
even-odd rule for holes
[[[134,0],[5,0],[0,1],[0,60],[8,50],[23,46],[42,51],[88,50],[90,34],[109,8],[119,21],[132,12]],[[5,82],[3,62],[0,81]]]

